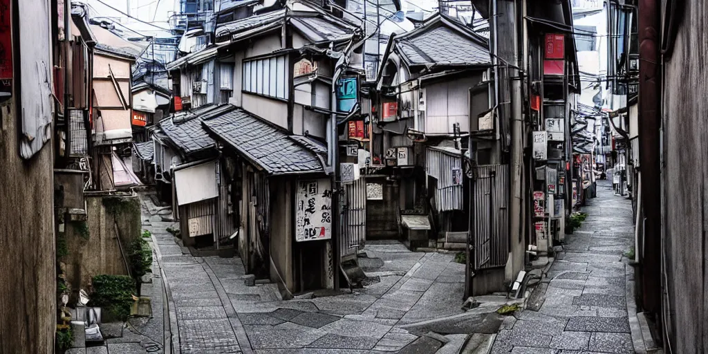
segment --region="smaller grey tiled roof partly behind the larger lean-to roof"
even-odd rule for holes
[[[214,146],[212,139],[202,128],[202,119],[211,113],[232,110],[232,105],[204,105],[183,113],[177,113],[160,121],[160,128],[171,142],[185,154],[193,154]],[[212,112],[213,111],[213,112]]]

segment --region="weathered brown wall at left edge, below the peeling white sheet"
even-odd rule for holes
[[[54,140],[20,158],[18,117],[0,106],[0,353],[53,353],[57,314]]]

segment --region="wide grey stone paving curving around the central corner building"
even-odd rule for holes
[[[171,292],[174,346],[183,354],[435,353],[452,339],[464,342],[412,329],[462,313],[464,265],[452,253],[370,242],[361,265],[380,281],[337,296],[283,301],[275,284],[246,286],[239,258],[190,256],[166,232],[176,224],[161,222],[145,195],[143,212]]]

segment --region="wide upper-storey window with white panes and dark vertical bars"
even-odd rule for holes
[[[246,61],[243,73],[244,91],[284,100],[290,97],[285,56]]]

